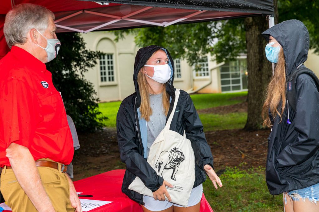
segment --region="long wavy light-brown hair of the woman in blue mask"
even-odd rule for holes
[[[263,104],[262,112],[263,127],[271,127],[271,120],[268,113],[269,109],[273,119],[275,119],[278,114],[280,122],[282,121],[281,116],[286,106],[286,84],[286,62],[284,51],[281,47],[274,75],[267,86],[266,100]],[[278,108],[280,104],[282,104],[281,109]]]

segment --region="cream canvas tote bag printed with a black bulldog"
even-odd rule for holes
[[[150,147],[147,162],[167,182],[174,185],[173,188],[166,187],[172,202],[187,207],[190,192],[195,181],[195,156],[190,140],[179,133],[170,130],[180,90],[175,91],[175,102],[173,111],[170,114],[164,129],[159,133],[154,143]],[[153,197],[153,193],[148,189],[140,178],[136,177],[129,186],[130,190],[140,194]],[[165,197],[167,200],[167,197]]]

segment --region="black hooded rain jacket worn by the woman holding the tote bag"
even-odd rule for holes
[[[155,170],[147,163],[146,158],[143,157],[144,148],[142,134],[145,134],[146,132],[143,132],[144,128],[141,126],[141,122],[145,122],[145,120],[140,120],[138,118],[138,108],[141,103],[141,97],[137,84],[137,74],[145,65],[146,61],[152,56],[152,54],[159,49],[166,51],[169,58],[169,65],[172,69],[172,77],[166,84],[166,91],[170,95],[171,99],[167,118],[169,117],[169,114],[173,110],[175,100],[175,88],[173,87],[174,64],[169,52],[166,49],[156,45],[141,48],[137,52],[133,75],[136,92],[122,101],[116,117],[117,139],[120,149],[120,157],[121,161],[126,164],[122,192],[128,195],[130,199],[143,205],[143,195],[128,189],[131,182],[136,176],[138,176],[143,181],[145,186],[154,192],[163,184],[163,178],[156,174]],[[181,90],[176,110],[180,110],[180,112],[174,114],[170,130],[174,130],[181,135],[183,135],[185,130],[186,137],[191,141],[196,160],[196,178],[194,183],[194,187],[196,187],[206,180],[204,165],[209,164],[211,167],[213,167],[211,148],[207,144],[205,134],[203,132],[202,122],[200,121],[193,101],[187,92]]]

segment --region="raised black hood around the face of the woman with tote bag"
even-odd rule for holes
[[[141,70],[141,68],[144,67],[146,64],[147,60],[155,53],[155,51],[162,49],[166,52],[167,58],[169,60],[168,65],[171,67],[172,74],[171,74],[171,79],[168,80],[167,84],[173,85],[174,81],[174,62],[169,54],[168,50],[157,46],[157,45],[150,45],[143,47],[137,51],[137,54],[135,56],[135,62],[134,62],[134,74],[133,74],[133,81],[134,81],[134,86],[135,86],[135,92],[138,91],[138,84],[137,84],[137,74]]]

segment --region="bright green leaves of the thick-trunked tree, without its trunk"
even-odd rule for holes
[[[275,7],[277,0],[274,1]],[[319,53],[319,1],[278,0],[279,22],[298,19],[308,28],[310,48]],[[277,17],[276,17],[277,19]],[[157,44],[170,50],[173,58],[186,58],[194,65],[205,54],[216,56],[217,62],[236,58],[246,53],[246,36],[243,18],[216,22],[171,25],[114,31],[117,39],[125,33],[135,34],[140,46]],[[277,20],[276,20],[277,22]]]

